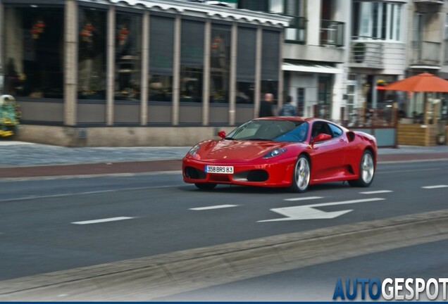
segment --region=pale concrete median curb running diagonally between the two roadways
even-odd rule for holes
[[[443,239],[448,209],[0,281],[0,300],[147,301]]]

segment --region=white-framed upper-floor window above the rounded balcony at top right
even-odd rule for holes
[[[352,17],[354,39],[401,41],[402,5],[356,0]]]

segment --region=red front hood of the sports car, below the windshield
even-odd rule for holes
[[[253,160],[286,145],[279,141],[208,141],[201,144],[198,154],[201,160]]]

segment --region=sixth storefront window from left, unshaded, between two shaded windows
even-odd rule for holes
[[[211,25],[210,102],[228,103],[230,85],[230,26]]]

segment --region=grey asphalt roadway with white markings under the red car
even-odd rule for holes
[[[447,169],[448,161],[380,164],[368,189],[332,183],[306,194],[241,186],[204,192],[179,172],[4,180],[0,279],[441,210]],[[298,206],[308,219],[294,219]]]

